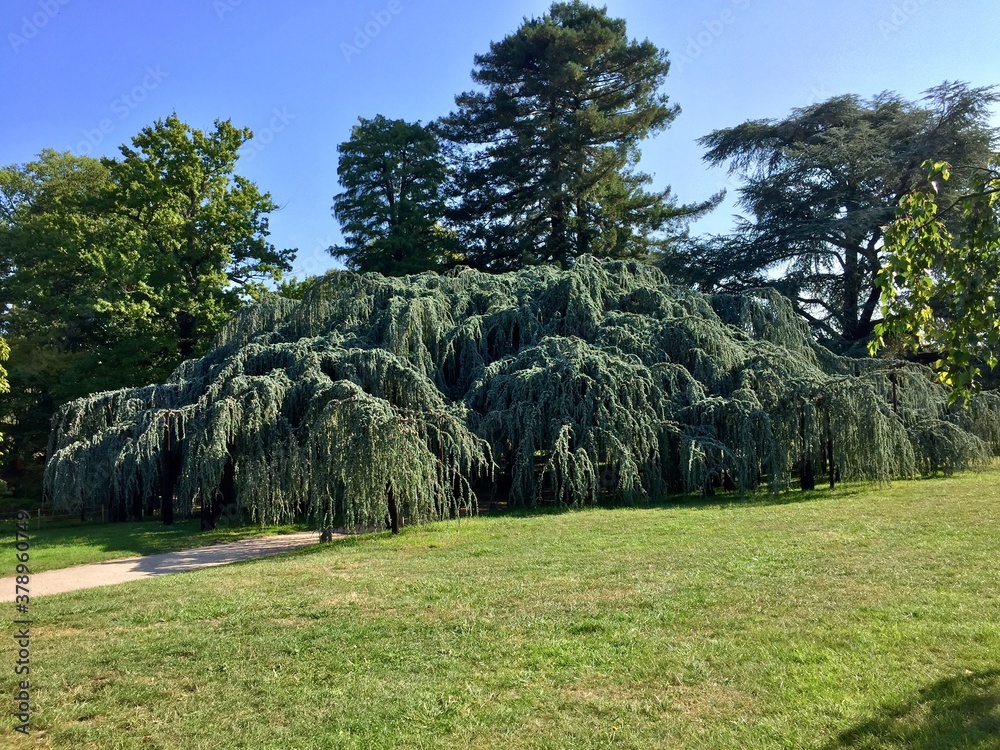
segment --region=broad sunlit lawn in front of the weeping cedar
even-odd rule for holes
[[[998,480],[482,517],[40,599],[33,732],[5,709],[0,745],[998,748]]]

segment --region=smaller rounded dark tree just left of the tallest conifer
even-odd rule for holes
[[[456,245],[440,223],[447,168],[437,136],[420,123],[360,118],[338,147],[343,192],[333,210],[345,244],[330,248],[355,271],[389,276],[444,268]]]

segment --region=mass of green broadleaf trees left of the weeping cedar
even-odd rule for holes
[[[234,173],[249,136],[172,116],[117,160],[47,150],[0,170],[0,408],[20,461],[60,403],[165,378],[288,268],[266,240],[274,204]]]

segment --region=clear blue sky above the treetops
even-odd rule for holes
[[[599,4],[599,3],[595,3]],[[250,127],[238,171],[282,206],[272,239],[295,272],[334,266],[337,144],[358,116],[427,122],[471,87],[473,55],[545,0],[3,0],[0,163],[43,148],[112,155],[176,111]],[[683,201],[728,183],[695,139],[835,94],[917,98],[943,80],[1000,84],[996,0],[608,0],[633,37],[667,49],[682,112],[642,168]],[[367,31],[366,31],[367,28]],[[997,120],[1000,124],[1000,119]],[[731,203],[699,231],[725,231]]]

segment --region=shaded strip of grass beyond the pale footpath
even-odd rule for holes
[[[149,520],[130,523],[43,525],[40,529],[35,528],[35,522],[32,520],[28,530],[31,544],[31,572],[41,573],[44,570],[120,557],[174,552],[265,534],[290,533],[306,527],[235,526],[206,532],[199,531],[199,528],[200,522],[197,519],[179,521],[171,526]],[[4,540],[0,546],[0,555],[13,564],[14,523],[0,524],[0,534]],[[13,574],[12,565],[4,567],[0,561],[0,577]]]

